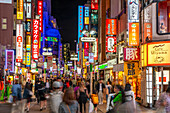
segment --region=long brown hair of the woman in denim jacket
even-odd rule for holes
[[[73,88],[67,88],[64,96],[63,96],[63,102],[65,102],[67,105],[73,104],[74,98],[74,90]]]

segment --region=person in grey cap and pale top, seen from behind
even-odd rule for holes
[[[53,93],[50,93],[49,108],[50,113],[58,113],[59,105],[63,101],[63,84],[62,82],[55,81],[53,83]]]

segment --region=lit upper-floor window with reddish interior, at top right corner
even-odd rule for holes
[[[170,0],[158,3],[158,33],[170,33]]]

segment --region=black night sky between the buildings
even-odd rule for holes
[[[71,50],[75,50],[74,40],[77,40],[78,5],[86,2],[87,0],[51,0],[52,16],[56,18],[62,42],[70,43]]]

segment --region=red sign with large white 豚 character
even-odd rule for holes
[[[140,49],[139,48],[124,48],[124,61],[139,61]]]

